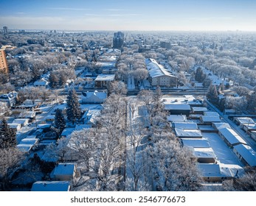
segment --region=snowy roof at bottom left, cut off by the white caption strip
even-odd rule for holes
[[[40,181],[32,185],[31,191],[69,191],[69,181]]]

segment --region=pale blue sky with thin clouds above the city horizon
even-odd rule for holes
[[[256,0],[0,0],[0,26],[256,31]]]

